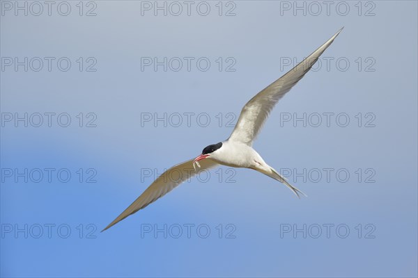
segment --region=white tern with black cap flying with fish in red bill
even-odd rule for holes
[[[109,229],[117,222],[127,218],[127,216],[136,213],[140,209],[148,206],[148,204],[155,202],[156,199],[169,193],[183,181],[203,170],[208,170],[219,164],[254,169],[268,175],[268,177],[284,183],[293,191],[293,193],[295,193],[295,195],[297,195],[297,197],[300,197],[299,193],[304,195],[299,189],[288,183],[286,178],[282,177],[281,174],[273,169],[273,167],[270,167],[270,165],[265,163],[263,158],[261,158],[251,145],[261,131],[272,108],[277,104],[277,101],[279,101],[286,92],[291,90],[297,81],[302,79],[304,74],[311,69],[312,65],[316,63],[319,56],[330,46],[341,30],[343,30],[343,28],[336,32],[330,40],[327,40],[327,42],[316,49],[314,53],[293,67],[292,70],[288,71],[284,76],[281,76],[250,99],[247,104],[245,104],[244,108],[242,108],[238,122],[235,125],[231,136],[229,136],[227,140],[205,147],[201,155],[175,165],[161,174],[160,177],[155,179],[155,181],[146,188],[144,193],[142,193],[125,209],[125,211],[123,211],[123,213],[121,213],[121,215],[107,225],[102,231]],[[176,180],[171,179],[170,177],[173,177],[173,175],[175,177],[178,176],[179,178]]]

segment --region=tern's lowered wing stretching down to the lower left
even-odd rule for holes
[[[130,206],[128,206],[121,215],[113,220],[106,228],[102,231],[109,229],[117,222],[127,218],[129,215],[136,213],[141,208],[145,208],[148,204],[155,202],[156,199],[166,195],[173,188],[192,178],[194,175],[199,174],[203,170],[208,170],[211,167],[218,165],[215,161],[210,158],[203,159],[200,161],[200,167],[194,170],[193,159],[180,163],[171,167],[169,170],[157,177],[153,183],[141,194]]]

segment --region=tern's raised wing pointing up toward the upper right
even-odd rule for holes
[[[279,101],[286,92],[291,90],[297,81],[302,79],[304,74],[311,69],[312,65],[316,63],[319,56],[330,46],[341,30],[343,30],[343,28],[336,32],[336,34],[333,35],[330,40],[327,40],[325,44],[316,49],[314,53],[293,67],[292,70],[288,71],[284,76],[281,76],[250,99],[247,104],[245,104],[244,108],[242,108],[238,122],[235,125],[235,129],[233,129],[229,140],[242,142],[251,146],[274,105],[277,104],[277,101]]]

